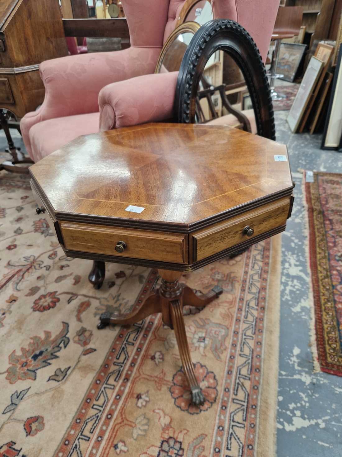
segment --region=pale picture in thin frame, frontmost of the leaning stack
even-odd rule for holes
[[[287,122],[292,132],[297,131],[298,125],[301,122],[301,118],[303,117],[306,106],[310,100],[310,96],[320,77],[323,65],[321,60],[314,56],[311,57],[293,105],[291,106],[289,116],[287,117]]]

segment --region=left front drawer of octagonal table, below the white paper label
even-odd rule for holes
[[[68,250],[187,263],[187,235],[64,221],[59,225]],[[123,252],[115,250],[119,241],[124,242]]]

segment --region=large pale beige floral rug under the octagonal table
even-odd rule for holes
[[[185,308],[200,408],[160,315],[96,329],[155,287],[156,271],[107,264],[96,291],[90,268],[36,215],[28,179],[1,172],[0,457],[274,456],[280,236],[182,278],[224,289]]]

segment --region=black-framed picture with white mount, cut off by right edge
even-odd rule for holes
[[[342,134],[342,46],[338,53],[337,66],[332,81],[330,97],[321,149],[338,149]]]

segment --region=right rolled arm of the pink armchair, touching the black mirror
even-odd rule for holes
[[[146,74],[105,86],[98,96],[100,130],[170,119],[177,76],[178,72]]]

